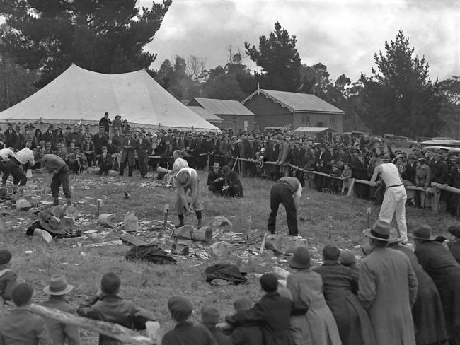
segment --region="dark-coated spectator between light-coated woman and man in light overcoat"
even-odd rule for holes
[[[374,329],[366,310],[352,293],[352,271],[338,263],[340,250],[323,248],[323,264],[314,271],[323,279],[323,294],[337,322],[343,345],[374,345]]]

